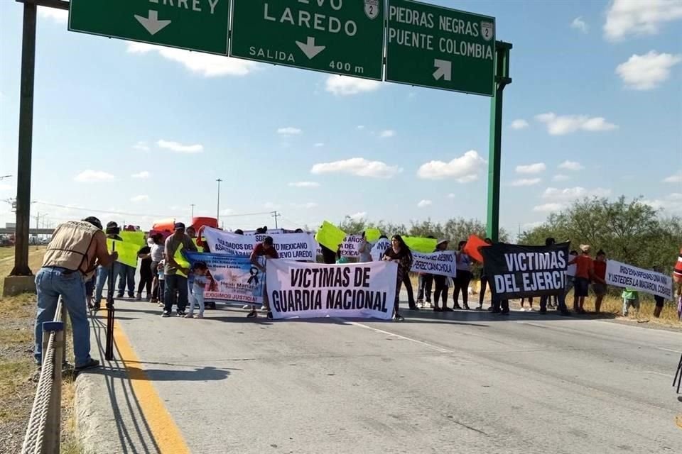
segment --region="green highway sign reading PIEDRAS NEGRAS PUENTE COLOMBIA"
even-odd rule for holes
[[[495,18],[389,0],[386,81],[493,96]]]

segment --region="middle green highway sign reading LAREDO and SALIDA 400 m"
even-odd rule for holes
[[[232,0],[229,55],[381,80],[384,0]]]

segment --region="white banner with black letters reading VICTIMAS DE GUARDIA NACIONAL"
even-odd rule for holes
[[[398,264],[323,265],[268,260],[267,292],[275,319],[393,316]]]

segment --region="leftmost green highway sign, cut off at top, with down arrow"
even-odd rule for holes
[[[229,0],[71,0],[69,30],[227,55]]]

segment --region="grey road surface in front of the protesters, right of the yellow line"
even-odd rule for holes
[[[516,312],[117,318],[192,453],[681,453],[682,333]]]

